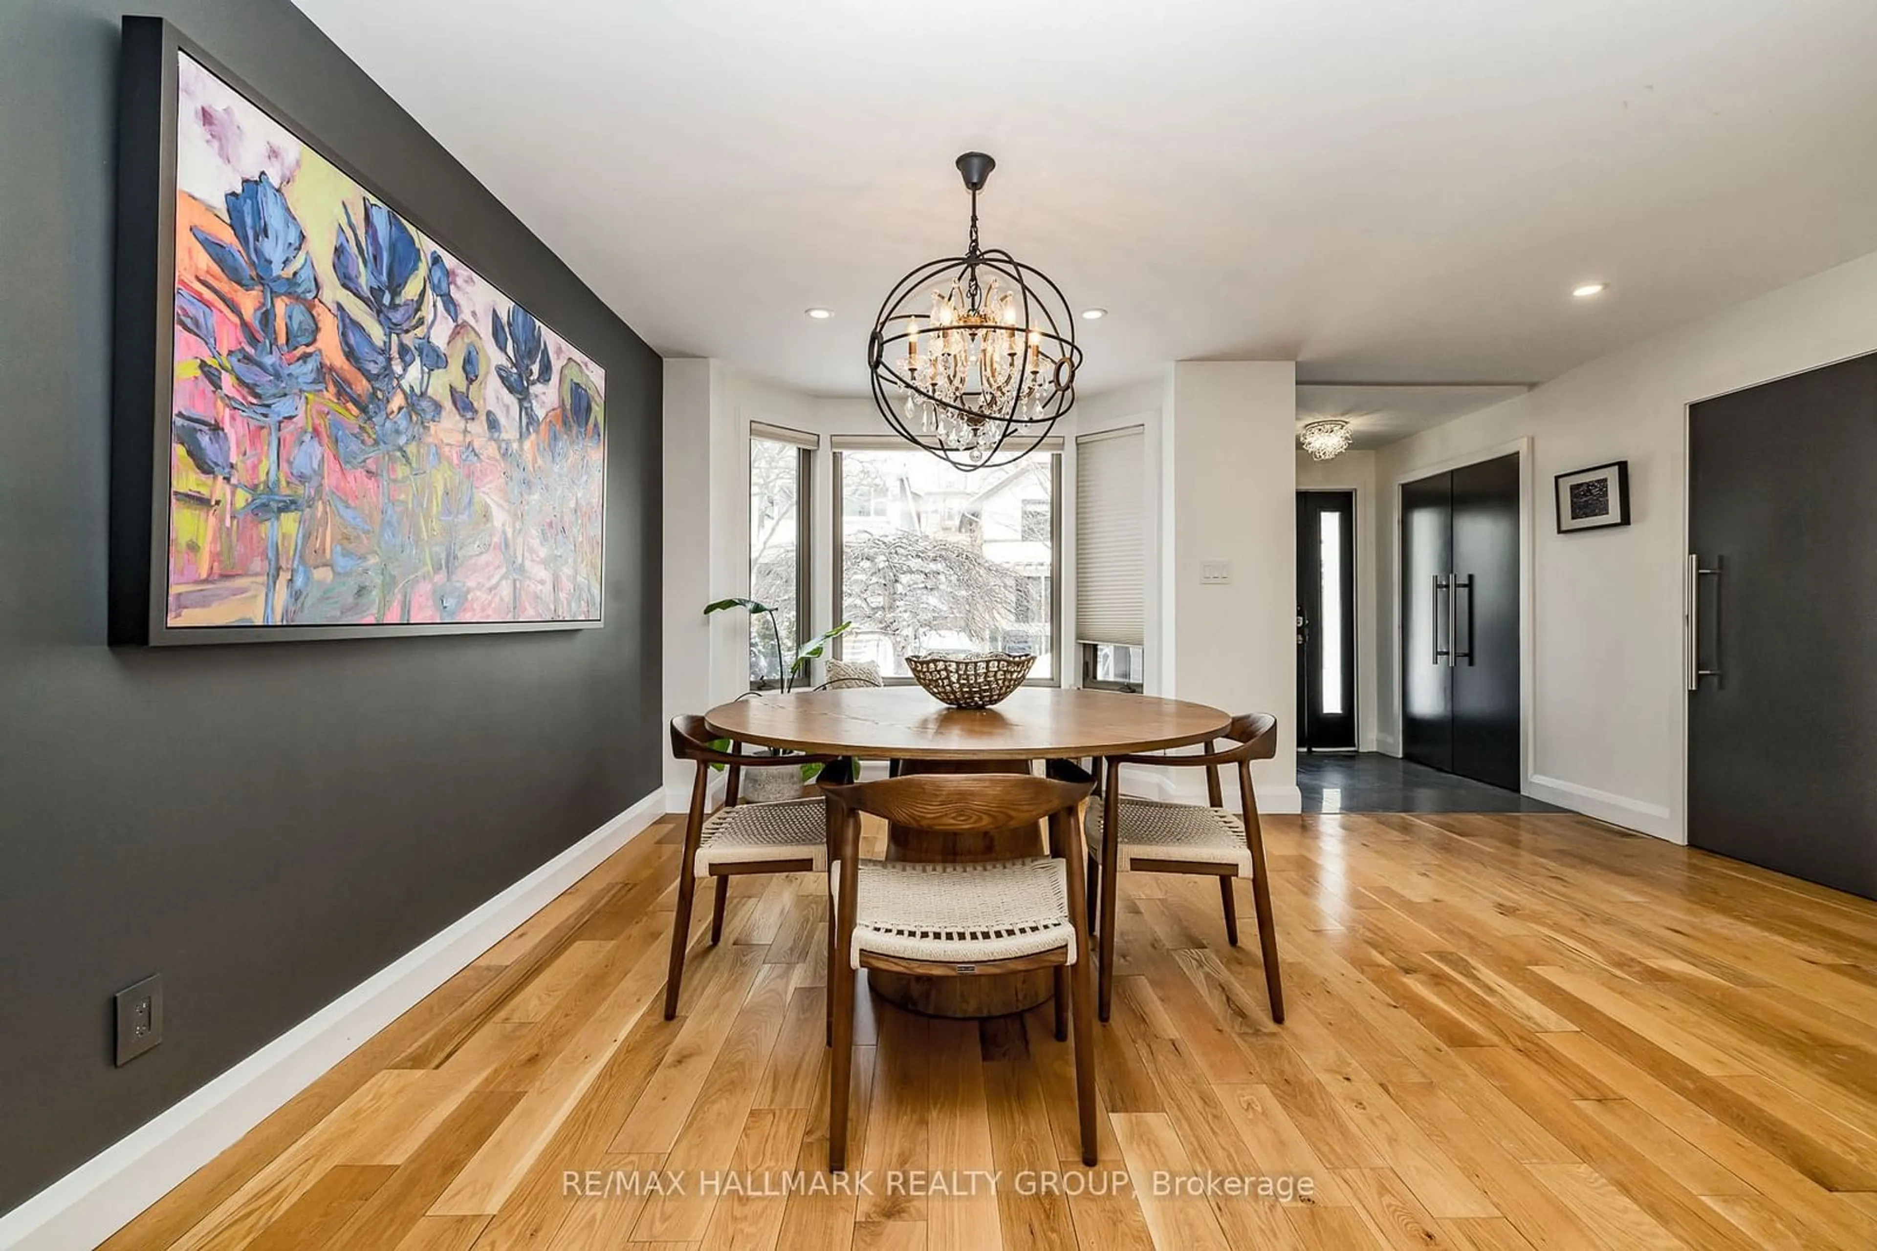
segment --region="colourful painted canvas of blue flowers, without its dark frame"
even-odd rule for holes
[[[167,623],[597,621],[606,375],[188,54]]]

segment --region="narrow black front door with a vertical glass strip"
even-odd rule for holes
[[[1297,728],[1355,748],[1355,491],[1297,491]]]

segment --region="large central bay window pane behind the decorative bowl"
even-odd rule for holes
[[[839,465],[845,658],[908,677],[908,655],[1014,651],[1055,677],[1055,454],[976,473],[914,448]]]

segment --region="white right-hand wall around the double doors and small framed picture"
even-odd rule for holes
[[[1622,298],[1612,289],[1609,298]],[[1682,568],[1687,405],[1877,351],[1877,253],[1603,356],[1524,396],[1381,448],[1395,482],[1530,437],[1534,664],[1526,793],[1687,840]],[[1631,525],[1558,535],[1552,476],[1629,461]],[[1393,538],[1389,538],[1393,546]],[[1395,563],[1381,583],[1393,585]],[[1383,593],[1383,737],[1398,733],[1398,611]]]

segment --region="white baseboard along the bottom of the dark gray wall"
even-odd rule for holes
[[[0,1247],[96,1247],[651,825],[646,795],[469,915],[0,1215]]]

